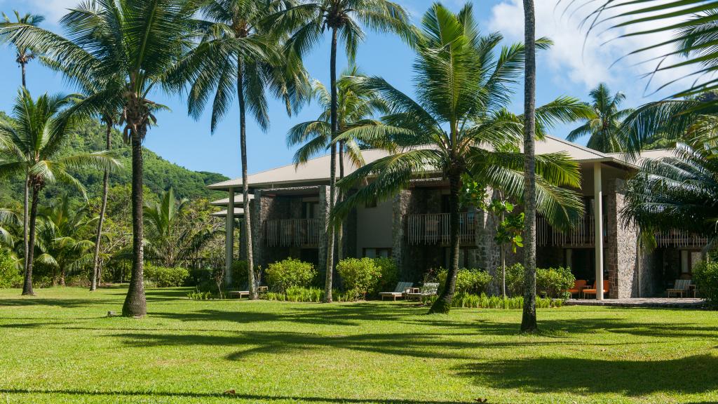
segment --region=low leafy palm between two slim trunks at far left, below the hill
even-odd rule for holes
[[[65,285],[65,275],[90,267],[94,243],[87,239],[95,225],[87,206],[77,208],[67,196],[39,212],[35,263],[52,268],[52,283]]]

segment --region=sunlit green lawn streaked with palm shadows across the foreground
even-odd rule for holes
[[[0,290],[0,403],[715,403],[718,313]],[[223,395],[235,390],[236,395]]]

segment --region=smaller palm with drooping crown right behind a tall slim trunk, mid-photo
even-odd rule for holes
[[[375,91],[367,91],[365,88],[358,88],[353,84],[352,78],[363,76],[356,65],[352,65],[342,72],[337,81],[337,120],[339,127],[337,133],[342,133],[348,129],[355,129],[362,126],[376,126],[381,124],[380,121],[373,119],[378,114],[387,114],[386,104],[378,98]],[[322,114],[315,121],[307,121],[297,124],[286,137],[289,146],[302,144],[299,150],[294,153],[294,164],[297,166],[307,162],[311,157],[317,155],[324,150],[330,149],[332,146],[332,127],[330,116],[332,114],[332,96],[327,88],[320,82],[314,81],[313,86],[314,97],[317,98],[322,107]],[[356,139],[342,140],[337,144],[339,150],[339,179],[344,178],[345,158],[347,155],[351,164],[355,167],[364,165],[364,159],[361,155],[360,147],[362,145],[356,142]],[[342,201],[342,193],[340,192],[338,201]],[[337,260],[342,259],[342,224],[337,227]]]

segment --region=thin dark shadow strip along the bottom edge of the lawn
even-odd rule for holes
[[[96,396],[141,396],[141,397],[186,397],[186,398],[224,398],[226,400],[253,400],[262,403],[273,401],[295,401],[297,403],[356,403],[356,404],[467,404],[474,401],[445,401],[445,400],[405,400],[398,398],[329,398],[329,397],[306,397],[289,395],[257,395],[243,394],[220,394],[209,392],[141,392],[141,391],[96,391],[96,390],[29,390],[29,389],[0,389],[0,394],[49,394],[49,395],[96,395]]]

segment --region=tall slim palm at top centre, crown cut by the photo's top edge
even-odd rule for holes
[[[364,38],[360,24],[378,32],[394,32],[409,43],[413,42],[414,29],[404,8],[388,0],[317,0],[294,6],[271,19],[283,29],[295,30],[289,46],[303,56],[322,38],[325,29],[331,33],[330,50],[330,125],[332,137],[339,131],[337,99],[337,46],[341,37],[345,52],[353,61],[357,48]],[[329,214],[332,216],[336,203],[337,147],[330,147],[330,195]],[[327,262],[325,280],[325,303],[332,302],[332,272],[334,270],[335,226],[327,226]]]

